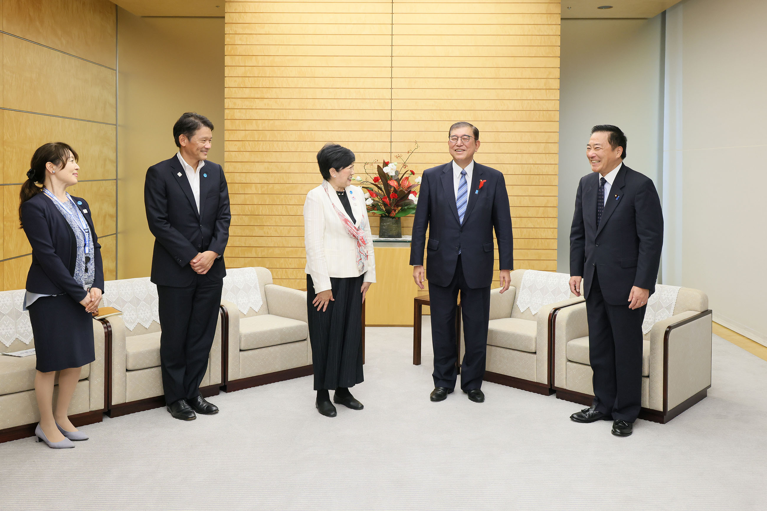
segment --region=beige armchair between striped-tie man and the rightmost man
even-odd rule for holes
[[[490,292],[485,380],[538,394],[551,395],[549,323],[555,311],[582,301],[570,293],[567,300],[548,303],[538,313],[519,310],[517,293],[528,270],[514,270],[511,287]],[[463,328],[461,332],[463,351]]]

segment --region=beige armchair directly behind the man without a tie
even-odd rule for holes
[[[149,278],[130,279],[131,281],[146,281]],[[125,281],[111,281],[105,285],[109,289],[112,283]],[[150,291],[141,296],[139,306],[151,308],[156,304],[156,287],[149,287]],[[105,295],[107,296],[107,295]],[[133,300],[137,300],[133,297]],[[102,302],[104,305],[104,302]],[[127,310],[125,304],[108,303],[117,309]],[[123,309],[121,309],[121,306]],[[129,306],[136,306],[135,303]],[[132,414],[137,411],[150,410],[165,406],[163,393],[163,375],[160,369],[160,324],[155,320],[149,326],[136,324],[133,330],[125,326],[123,316],[110,316],[102,319],[107,325],[110,343],[109,360],[110,382],[107,395],[107,414],[110,417]],[[219,394],[222,382],[222,316],[219,314],[219,322],[216,326],[216,336],[213,338],[213,346],[208,358],[208,369],[200,383],[200,393],[203,397]]]

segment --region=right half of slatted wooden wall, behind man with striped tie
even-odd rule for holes
[[[393,152],[417,139],[417,170],[446,163],[449,126],[477,126],[476,161],[505,175],[515,268],[556,270],[559,2],[474,2],[457,24],[462,5],[393,2]]]

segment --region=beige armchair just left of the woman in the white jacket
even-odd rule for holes
[[[272,273],[256,267],[262,306],[243,314],[222,301],[226,333],[224,391],[311,375],[306,291],[272,283]]]

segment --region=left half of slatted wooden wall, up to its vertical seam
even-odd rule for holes
[[[225,55],[227,265],[306,287],[303,205],[322,181],[318,150],[389,155],[391,4],[227,2]]]

